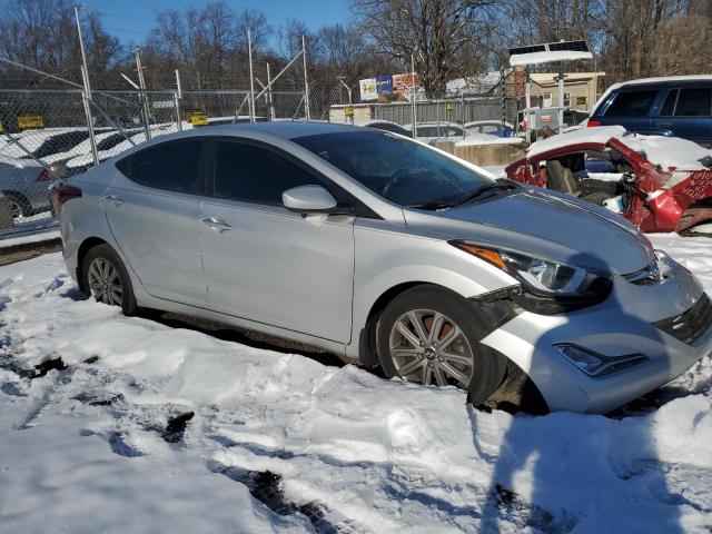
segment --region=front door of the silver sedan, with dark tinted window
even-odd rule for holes
[[[216,138],[200,243],[208,306],[325,339],[350,338],[354,217],[304,215],[286,189],[334,185],[265,144]]]

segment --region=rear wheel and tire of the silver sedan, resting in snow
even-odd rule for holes
[[[109,245],[97,245],[81,263],[82,288],[98,303],[120,306],[123,315],[134,315],[136,297],[129,274],[119,255]]]

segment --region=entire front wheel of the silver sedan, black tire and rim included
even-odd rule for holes
[[[473,303],[436,286],[414,287],[393,299],[378,320],[380,366],[388,377],[454,385],[478,405],[506,373],[506,359],[479,344],[491,329]]]

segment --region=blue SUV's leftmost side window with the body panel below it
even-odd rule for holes
[[[637,134],[652,132],[653,108],[660,98],[660,89],[651,87],[623,88],[611,93],[596,110],[595,120],[602,125],[620,125]]]

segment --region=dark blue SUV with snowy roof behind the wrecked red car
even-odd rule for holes
[[[675,136],[712,148],[712,76],[674,76],[614,83],[596,102],[590,127]]]

